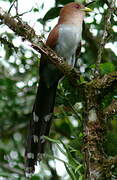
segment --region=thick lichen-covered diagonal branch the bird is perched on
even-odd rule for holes
[[[10,14],[3,11],[0,8],[0,20],[12,29],[17,35],[23,37],[23,40],[28,40],[31,43],[31,47],[39,53],[45,54],[48,59],[57,66],[60,71],[68,76],[72,83],[77,85],[77,80],[80,78],[80,73],[77,72],[72,66],[65,63],[63,58],[59,57],[51,48],[46,46],[42,37],[38,36],[34,29],[31,28],[27,23],[23,22],[19,18],[15,20]]]

